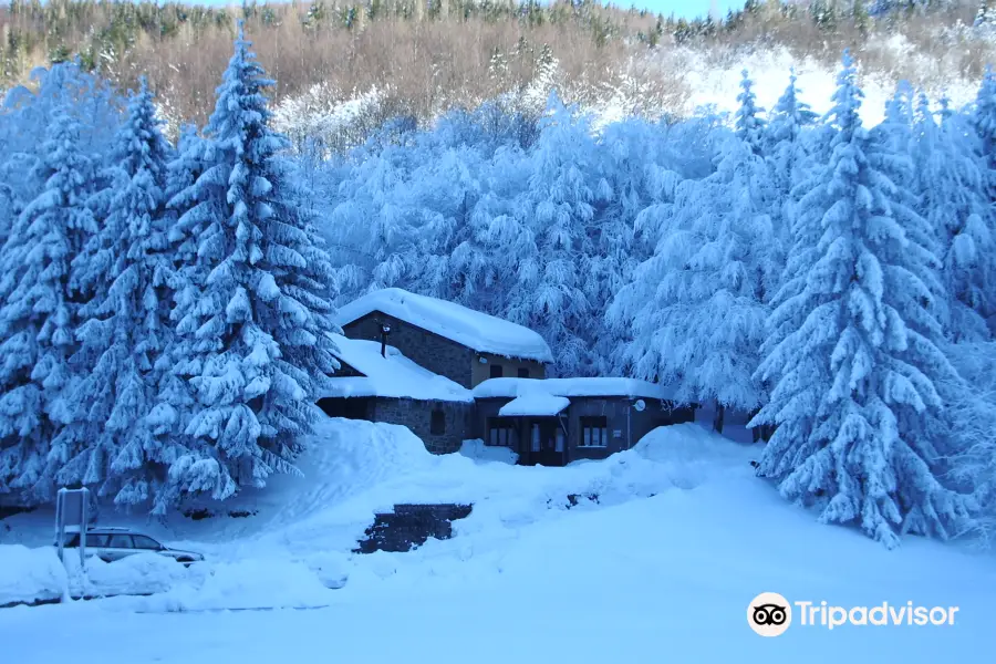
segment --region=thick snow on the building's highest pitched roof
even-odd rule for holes
[[[400,288],[385,288],[353,300],[339,310],[336,322],[347,325],[374,311],[417,325],[479,353],[552,362],[543,338],[522,325]]]

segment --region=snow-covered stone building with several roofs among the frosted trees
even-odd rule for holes
[[[674,404],[654,383],[547,380],[552,353],[539,334],[453,302],[384,289],[343,307],[338,322],[342,369],[318,405],[404,425],[433,453],[483,439],[522,464],[561,466],[694,418],[693,405]]]

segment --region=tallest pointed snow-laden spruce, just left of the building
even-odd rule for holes
[[[197,228],[199,297],[177,301],[173,352],[195,390],[186,422],[190,454],[168,470],[166,492],[231,495],[263,486],[293,460],[311,430],[313,400],[332,355],[331,269],[269,128],[272,82],[241,27],[206,127],[204,172],[173,197],[178,224]]]

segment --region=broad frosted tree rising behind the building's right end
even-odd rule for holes
[[[754,374],[776,284],[766,177],[764,159],[730,137],[715,174],[677,186],[671,228],[609,311],[633,330],[631,372],[674,383],[679,401],[715,403],[719,430],[725,408],[765,401]]]

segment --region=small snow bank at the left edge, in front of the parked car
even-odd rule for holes
[[[65,588],[65,568],[54,548],[0,546],[0,606],[54,600],[63,595]]]

